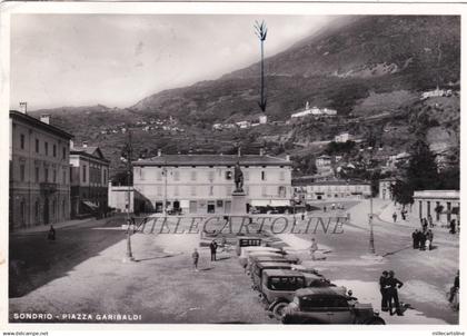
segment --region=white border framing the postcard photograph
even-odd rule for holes
[[[428,1],[433,2],[433,1]],[[8,271],[7,264],[2,260],[8,255],[8,165],[9,152],[9,42],[10,42],[10,17],[16,13],[106,13],[106,14],[463,14],[466,6],[460,3],[375,3],[375,2],[351,2],[351,3],[309,3],[309,2],[3,2],[0,7],[0,152],[3,155],[3,162],[0,165],[0,332],[40,332],[48,330],[49,335],[82,335],[83,330],[99,330],[99,334],[128,335],[128,330],[138,330],[148,334],[159,330],[165,334],[172,334],[175,330],[182,330],[187,335],[228,334],[234,335],[239,330],[258,330],[274,335],[290,330],[304,334],[346,334],[346,335],[374,335],[376,332],[382,334],[410,333],[410,335],[431,335],[431,332],[466,332],[466,316],[460,315],[459,325],[388,325],[388,326],[284,326],[284,325],[113,325],[113,324],[9,324],[8,323]],[[466,11],[467,12],[467,11]],[[466,36],[466,24],[461,18],[461,37]],[[463,39],[464,40],[464,39]],[[461,43],[461,83],[466,78],[465,70],[465,43]],[[461,95],[463,98],[463,95]],[[465,110],[465,100],[461,99],[461,110]],[[461,130],[465,122],[461,118]],[[467,135],[461,132],[461,149],[466,144]],[[461,150],[461,167],[464,167],[464,151]],[[461,190],[466,190],[467,181],[461,178]],[[464,192],[461,192],[464,202]],[[467,218],[467,210],[461,207],[461,218]],[[464,225],[463,225],[464,227]],[[465,229],[460,235],[460,264],[465,264]],[[1,264],[2,263],[2,264]],[[461,288],[466,288],[464,270],[460,279]],[[465,291],[465,290],[464,290]],[[461,291],[461,312],[466,312],[467,295]],[[219,303],[221,304],[221,303]],[[179,332],[177,332],[179,333]],[[88,334],[88,333],[87,333]],[[454,334],[451,334],[454,335]]]

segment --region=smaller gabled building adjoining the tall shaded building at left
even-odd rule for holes
[[[108,207],[109,164],[99,147],[72,147],[70,151],[71,217],[105,216]]]

